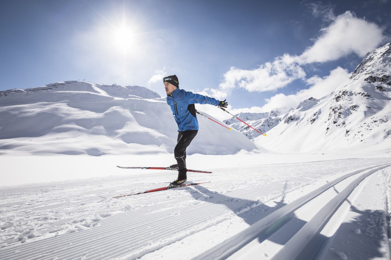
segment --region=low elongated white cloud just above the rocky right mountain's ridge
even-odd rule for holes
[[[285,95],[276,94],[267,99],[267,103],[260,108],[262,112],[270,111],[276,107],[293,107],[294,109],[300,102],[310,97],[322,98],[330,94],[336,87],[348,79],[350,73],[347,69],[337,67],[330,71],[330,75],[323,78],[314,76],[306,80],[309,87],[301,89],[296,94]]]

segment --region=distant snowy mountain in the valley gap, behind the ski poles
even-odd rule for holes
[[[235,115],[236,117],[242,119],[247,122],[249,125],[258,129],[260,132],[265,133],[278,125],[280,123],[281,118],[280,115],[293,110],[293,108],[288,107],[280,107],[271,110],[270,112],[264,113],[239,113]],[[246,124],[240,122],[235,117],[224,120],[224,123],[230,125],[232,128],[242,132],[242,134],[246,135],[249,139],[253,139],[258,137],[260,134],[256,132],[254,129],[250,128]]]

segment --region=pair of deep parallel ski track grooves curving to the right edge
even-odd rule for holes
[[[328,191],[329,189],[332,189],[338,183],[343,182],[347,178],[350,178],[352,176],[357,175],[357,178],[355,178],[350,183],[348,183],[346,185],[346,188],[343,191],[340,191],[338,193],[338,195],[334,197],[334,198],[337,198],[337,197],[339,198],[337,203],[332,199],[331,201],[325,203],[322,206],[322,208],[315,214],[315,215],[324,214],[323,222],[321,222],[321,224],[318,225],[318,227],[321,228],[326,223],[326,221],[338,210],[339,206],[345,201],[345,199],[348,198],[348,196],[354,191],[354,189],[363,180],[365,180],[366,178],[371,176],[373,173],[375,173],[381,169],[384,169],[386,167],[391,167],[391,164],[379,164],[379,165],[376,165],[373,167],[367,167],[365,169],[361,169],[359,171],[354,171],[352,173],[348,173],[344,176],[341,176],[341,177],[333,180],[332,182],[329,182],[329,183],[323,185],[319,189],[316,189],[315,191],[306,194],[305,196],[301,197],[300,199],[293,201],[292,203],[286,205],[285,207],[282,207],[282,208],[276,210],[275,212],[268,215],[264,219],[261,219],[260,221],[253,224],[251,227],[247,228],[246,230],[238,233],[237,235],[235,235],[233,237],[230,237],[229,239],[227,239],[223,243],[215,246],[214,248],[211,248],[211,249],[201,253],[200,255],[195,256],[194,258],[192,258],[192,260],[226,259],[226,258],[232,256],[237,251],[244,248],[251,241],[253,241],[254,239],[257,239],[259,234],[261,232],[263,232],[265,229],[271,227],[272,225],[276,225],[276,223],[278,223],[283,217],[287,216],[288,214],[290,214],[292,212],[295,212],[296,210],[298,210],[301,207],[304,207],[305,205],[310,203],[313,199],[316,199],[318,196],[320,196],[324,192]],[[352,186],[352,183],[354,183],[354,185],[353,185],[353,187],[350,187],[350,186]],[[342,198],[340,198],[340,197],[342,197]],[[325,210],[326,207],[330,208],[331,207],[330,205],[333,205],[333,204],[334,204],[334,208],[332,209],[332,211],[326,211],[325,213],[323,213],[323,211]],[[289,223],[289,221],[291,221],[293,218],[294,217],[289,218],[288,221],[286,221],[283,224],[280,224],[280,226],[278,228],[274,228],[274,232],[268,234],[267,237],[273,236],[274,233],[282,232],[281,230],[283,230],[285,224]],[[316,219],[319,219],[319,218],[313,217],[312,219],[310,219],[310,221],[307,222],[307,224],[312,223],[313,221],[316,221]],[[279,224],[277,224],[277,225],[279,225]],[[308,227],[308,225],[306,227]],[[295,259],[296,256],[298,256],[300,254],[300,252],[305,249],[305,246],[309,243],[309,241],[308,241],[303,244],[303,242],[301,240],[305,240],[305,237],[310,237],[310,239],[312,239],[313,235],[316,234],[317,230],[315,230],[315,231],[310,230],[311,232],[310,232],[310,234],[308,234],[308,232],[309,232],[308,228],[307,229],[300,228],[298,231],[296,231],[294,233],[292,238],[289,239],[289,241],[287,242],[287,244],[289,244],[288,246],[286,246],[286,245],[285,245],[285,247],[283,246],[282,249],[276,253],[276,255],[267,256],[267,259],[271,259],[271,260],[283,260],[283,259],[292,260],[292,259]],[[306,231],[307,231],[307,233],[305,233]],[[305,236],[302,235],[303,233],[305,233]],[[267,237],[265,237],[265,240],[267,240]],[[299,246],[297,244],[299,244]],[[323,245],[319,245],[319,248],[321,248],[322,246]],[[287,248],[289,248],[290,250]],[[292,250],[292,248],[294,248],[294,249]],[[285,251],[289,252],[289,254],[288,254],[289,256],[287,256],[287,252],[285,252]],[[295,251],[295,253],[297,253],[297,254],[292,255],[292,251]],[[284,255],[284,252],[285,252],[285,255]],[[262,258],[262,259],[264,259],[264,258]]]

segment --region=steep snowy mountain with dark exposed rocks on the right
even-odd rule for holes
[[[255,142],[278,151],[357,146],[390,151],[391,45],[368,53],[331,94],[309,98],[280,116],[282,123]],[[276,138],[278,137],[278,138]]]

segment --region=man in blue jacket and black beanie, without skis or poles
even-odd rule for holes
[[[174,149],[174,157],[178,165],[178,178],[171,182],[171,185],[182,185],[187,180],[186,169],[186,148],[198,132],[198,121],[195,115],[194,104],[210,104],[220,107],[227,107],[226,100],[219,101],[208,96],[194,94],[190,91],[179,89],[179,81],[176,75],[163,78],[164,88],[167,94],[167,104],[170,105],[172,115],[178,124],[178,140]]]

